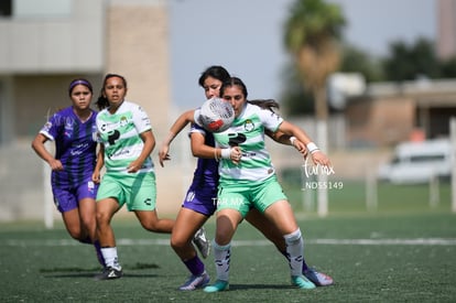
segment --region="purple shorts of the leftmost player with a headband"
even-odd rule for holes
[[[54,204],[61,213],[79,207],[79,201],[83,198],[95,199],[97,197],[97,191],[98,184],[95,184],[91,180],[86,180],[76,187],[52,186]]]

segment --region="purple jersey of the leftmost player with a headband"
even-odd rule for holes
[[[76,187],[91,177],[96,162],[97,142],[95,123],[97,112],[82,122],[67,107],[54,113],[40,133],[55,142],[55,159],[62,162],[63,171],[52,172],[52,185]]]

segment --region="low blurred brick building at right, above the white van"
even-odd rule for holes
[[[374,83],[347,102],[347,140],[351,147],[392,147],[417,137],[448,137],[452,117],[454,79]]]

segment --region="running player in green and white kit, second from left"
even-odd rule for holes
[[[94,180],[99,180],[106,165],[97,194],[97,231],[106,261],[99,280],[122,277],[110,223],[123,204],[149,231],[171,234],[174,225],[173,219],[160,219],[155,209],[155,173],[150,158],[155,139],[149,117],[140,106],[126,100],[126,95],[127,80],[106,75],[97,101],[100,153],[94,171]]]

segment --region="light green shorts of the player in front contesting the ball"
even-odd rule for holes
[[[218,187],[217,212],[221,209],[236,209],[242,217],[254,207],[264,210],[278,201],[287,201],[275,175],[258,183],[248,185],[220,184]]]

